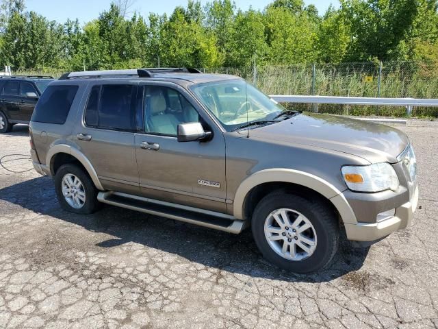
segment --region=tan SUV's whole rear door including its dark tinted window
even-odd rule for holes
[[[90,160],[105,189],[138,192],[134,151],[138,82],[96,82],[88,87],[74,140]]]

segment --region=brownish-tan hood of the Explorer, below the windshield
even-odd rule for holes
[[[372,163],[397,162],[409,138],[388,125],[333,114],[306,113],[250,130],[250,137],[353,154]]]

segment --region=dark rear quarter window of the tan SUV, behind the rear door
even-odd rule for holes
[[[63,125],[66,122],[78,86],[48,86],[42,93],[31,121]]]

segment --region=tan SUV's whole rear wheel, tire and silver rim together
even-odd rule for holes
[[[64,210],[91,214],[97,210],[97,189],[91,178],[76,164],[64,164],[55,173],[57,199]]]

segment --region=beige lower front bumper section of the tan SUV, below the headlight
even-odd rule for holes
[[[417,209],[418,204],[418,186],[415,186],[415,191],[411,200],[406,204],[396,208],[394,217],[389,217],[378,223],[361,223],[356,224],[345,223],[345,230],[348,240],[352,241],[376,241],[385,236],[406,228],[413,219],[413,213]]]

